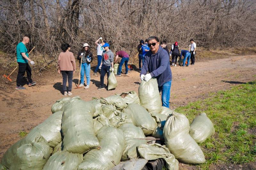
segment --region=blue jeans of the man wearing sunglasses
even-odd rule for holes
[[[172,81],[165,82],[161,87],[158,86],[159,92],[162,91],[162,106],[169,108]]]

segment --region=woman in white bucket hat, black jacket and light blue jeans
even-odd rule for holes
[[[90,87],[90,70],[91,70],[91,62],[92,62],[92,52],[89,50],[89,45],[84,43],[83,48],[80,53],[78,53],[77,59],[79,63],[82,60],[81,66],[81,84],[79,87],[84,86],[84,72],[86,75],[86,86],[84,89],[88,89]]]

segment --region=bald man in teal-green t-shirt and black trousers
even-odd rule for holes
[[[22,41],[16,46],[17,62],[19,64],[19,70],[18,70],[18,75],[16,80],[17,86],[15,88],[16,90],[26,89],[21,85],[25,72],[27,72],[28,86],[36,85],[36,82],[32,81],[31,79],[31,75],[32,75],[31,68],[28,64],[28,61],[30,62],[31,65],[35,64],[35,62],[30,60],[28,57],[28,49],[25,46],[28,43],[29,43],[29,38],[23,37]]]

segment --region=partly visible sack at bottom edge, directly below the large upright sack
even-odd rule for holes
[[[43,170],[76,170],[83,161],[83,154],[56,152],[47,161]]]

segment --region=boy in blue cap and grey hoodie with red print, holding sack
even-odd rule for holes
[[[114,53],[109,49],[109,44],[105,43],[103,46],[104,51],[102,53],[102,61],[100,63],[100,89],[104,89],[104,77],[107,73],[107,76],[109,77],[109,70],[110,67],[112,67],[112,71],[114,71]],[[107,83],[107,89],[108,89],[108,83]]]

